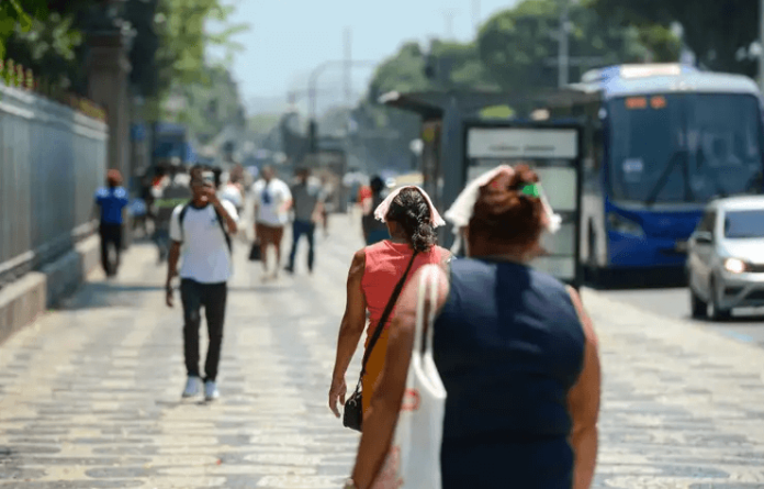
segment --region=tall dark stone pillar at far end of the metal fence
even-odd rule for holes
[[[90,56],[88,59],[88,98],[106,110],[109,124],[109,155],[106,168],[119,169],[124,185],[133,175],[130,157],[130,98],[128,78],[131,70],[127,59],[126,36],[119,29],[91,32],[88,35]],[[124,243],[132,242],[125,225]]]

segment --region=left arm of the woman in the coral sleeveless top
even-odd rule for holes
[[[366,326],[366,297],[361,289],[361,280],[366,270],[366,251],[356,252],[348,273],[347,303],[345,315],[339,325],[337,338],[337,358],[335,359],[334,371],[332,374],[332,387],[329,389],[329,408],[339,418],[337,402],[345,404],[347,386],[345,385],[345,373],[350,365],[358,343],[363,334]]]

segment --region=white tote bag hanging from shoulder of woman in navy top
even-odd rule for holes
[[[440,445],[443,435],[446,389],[432,360],[432,330],[437,304],[437,274],[427,266],[419,281],[414,352],[406,390],[387,459],[374,489],[440,489]],[[425,318],[429,293],[430,313]]]

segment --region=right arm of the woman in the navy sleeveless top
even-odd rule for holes
[[[568,394],[568,407],[573,418],[571,445],[575,454],[573,489],[588,489],[594,479],[594,469],[597,464],[597,420],[602,389],[599,348],[597,335],[594,332],[594,323],[584,310],[578,293],[572,288],[569,291],[586,337],[584,367],[578,381]]]

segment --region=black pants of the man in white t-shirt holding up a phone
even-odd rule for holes
[[[204,307],[210,336],[210,346],[204,362],[204,378],[215,380],[217,377],[227,294],[228,287],[225,282],[200,284],[187,278],[180,281],[180,300],[183,302],[183,349],[186,371],[189,376],[200,377],[199,327],[202,321],[201,309]]]

